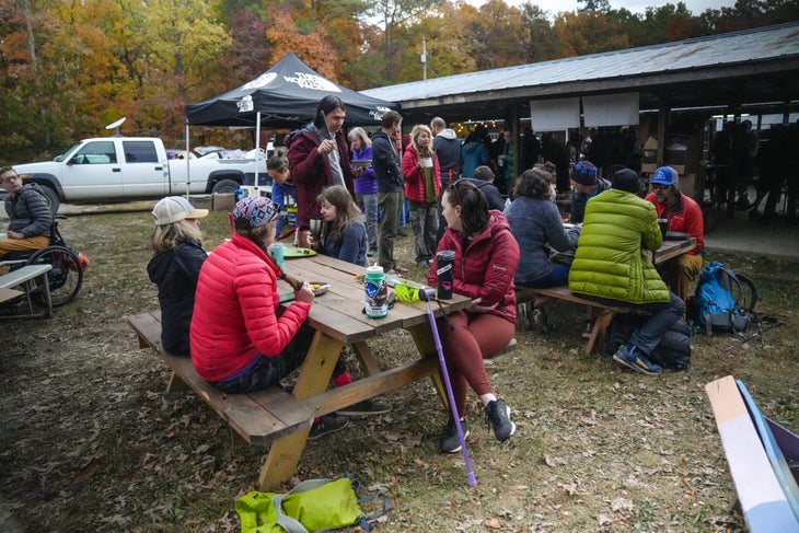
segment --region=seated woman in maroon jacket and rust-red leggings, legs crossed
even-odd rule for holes
[[[437,252],[455,252],[452,291],[472,299],[472,306],[439,318],[438,332],[447,358],[455,406],[464,438],[468,428],[463,422],[466,409],[466,384],[477,393],[500,442],[516,431],[510,421],[510,407],[498,399],[488,381],[483,359],[508,345],[516,329],[516,293],[513,273],[519,264],[519,245],[500,211],[489,211],[486,197],[472,183],[459,179],[441,196],[447,231]],[[427,277],[438,285],[438,255]],[[461,443],[454,419],[450,418],[442,452],[459,452]]]

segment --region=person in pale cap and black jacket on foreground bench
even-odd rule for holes
[[[152,216],[155,230],[150,246],[155,255],[147,274],[158,286],[161,344],[166,351],[187,356],[197,278],[208,257],[199,219],[208,216],[208,209],[195,209],[182,196],[167,196],[155,204]]]

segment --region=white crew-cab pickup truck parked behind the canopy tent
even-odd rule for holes
[[[167,159],[155,137],[84,139],[54,161],[14,165],[35,182],[53,212],[60,202],[91,204],[162,198],[170,195],[232,193],[268,181],[266,159]]]

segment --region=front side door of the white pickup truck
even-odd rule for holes
[[[89,141],[66,162],[61,176],[68,198],[117,198],[123,194],[121,165],[113,140]]]

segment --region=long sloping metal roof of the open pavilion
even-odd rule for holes
[[[799,22],[361,91],[403,115],[505,116],[509,104],[622,92],[640,108],[799,100]]]

